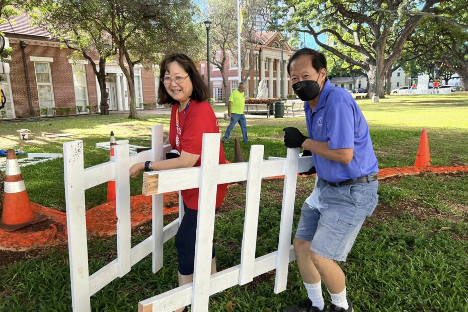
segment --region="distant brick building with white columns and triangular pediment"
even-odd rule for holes
[[[283,87],[281,88],[281,42],[283,38],[280,32],[264,32],[259,40],[259,44],[254,51],[254,61],[249,76],[246,82],[246,98],[255,97],[257,93],[257,83],[262,80],[267,82],[268,97],[280,97],[281,89],[283,90],[283,97],[292,94],[291,84],[289,83],[289,77],[287,74],[287,62],[289,57],[294,54],[294,50],[289,46],[287,41],[284,41],[283,46]],[[217,56],[222,59],[221,53]],[[247,58],[250,59],[249,57]],[[239,84],[239,73],[235,60],[229,58],[226,59],[226,65],[228,64],[226,73],[226,79],[228,81],[227,90],[230,95],[232,90],[237,89]],[[204,77],[205,82],[207,81],[206,75],[206,61],[201,61],[201,73]],[[247,68],[250,63],[247,63]],[[224,88],[222,85],[222,76],[218,67],[210,64],[210,81],[211,81],[211,96],[217,101],[221,102],[222,98],[225,97]],[[244,68],[244,74],[247,73],[247,68]]]

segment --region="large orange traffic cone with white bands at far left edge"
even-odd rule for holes
[[[14,231],[29,224],[39,223],[47,217],[33,212],[21,176],[20,165],[14,149],[7,150],[4,203],[0,228]]]

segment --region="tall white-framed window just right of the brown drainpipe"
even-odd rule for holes
[[[39,108],[47,108],[48,114],[53,115],[52,108],[55,107],[54,93],[52,88],[52,77],[50,76],[50,63],[34,62],[36,70],[37,94],[39,97]],[[41,111],[41,115],[43,112]]]

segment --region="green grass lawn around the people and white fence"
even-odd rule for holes
[[[468,93],[441,96],[389,96],[380,103],[358,101],[366,119],[379,167],[411,166],[421,129],[429,134],[433,165],[468,165]],[[222,106],[216,110],[222,112]],[[227,111],[227,109],[225,109]],[[108,160],[108,151],[95,149],[96,142],[117,139],[150,146],[150,125],[163,123],[164,115],[142,115],[137,121],[125,115],[51,118],[21,123],[2,123],[0,148],[24,146],[28,152],[61,152],[61,144],[83,139],[85,167]],[[219,120],[225,130],[228,121]],[[296,126],[305,132],[305,118],[248,119],[251,142],[264,144],[265,156],[284,156],[282,128]],[[33,140],[20,142],[16,130],[28,128]],[[46,138],[44,133],[72,132],[65,138]],[[232,136],[242,137],[239,127]],[[242,143],[241,143],[242,144]],[[228,160],[233,145],[225,144]],[[61,160],[22,169],[32,201],[64,210]],[[310,194],[314,178],[298,179],[294,229],[300,207]],[[141,193],[141,179],[131,180],[132,195]],[[215,245],[219,269],[240,263],[245,184],[228,189],[216,215]],[[281,213],[282,180],[262,184],[257,256],[277,249]],[[379,204],[362,228],[348,261],[342,263],[347,289],[355,311],[468,311],[468,174],[421,175],[380,182]],[[87,207],[105,201],[106,185],[87,190]],[[168,218],[173,218],[169,216]],[[150,235],[145,224],[133,230],[132,244]],[[116,257],[116,239],[90,238],[91,273]],[[5,259],[17,259],[17,262]],[[2,261],[3,260],[3,261]],[[174,240],[165,244],[165,266],[153,275],[150,258],[95,294],[93,310],[136,310],[139,300],[177,285],[177,253]],[[0,310],[64,311],[71,305],[66,246],[27,253],[0,252]],[[274,273],[247,286],[232,287],[210,299],[210,311],[281,311],[305,296],[295,263],[290,265],[288,289],[273,293]],[[325,287],[324,287],[325,290]],[[328,302],[329,296],[325,290]],[[232,304],[232,305],[231,305]]]

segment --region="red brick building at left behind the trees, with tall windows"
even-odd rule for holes
[[[74,114],[77,106],[84,110],[86,106],[99,107],[101,92],[88,60],[73,65],[68,58],[72,50],[61,48],[63,44],[50,39],[48,33],[30,26],[31,19],[26,14],[14,20],[15,25],[8,22],[0,25],[0,31],[13,49],[10,73],[2,74],[2,89],[7,98],[2,111],[6,112],[6,117],[36,115],[43,108],[52,115],[52,108],[59,112],[60,107],[71,107]],[[97,52],[91,56],[99,63]],[[130,93],[117,57],[106,64],[106,73],[109,109],[128,110]],[[134,73],[137,108],[141,103],[155,102],[153,71],[137,65]],[[2,115],[5,118],[5,113]]]

